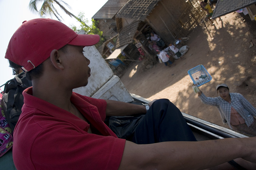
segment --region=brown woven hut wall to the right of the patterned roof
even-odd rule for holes
[[[184,0],[162,0],[147,17],[149,25],[166,43],[185,37],[198,21],[190,12],[193,6]]]

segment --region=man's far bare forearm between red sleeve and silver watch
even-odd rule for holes
[[[132,103],[119,102],[115,100],[106,100],[107,116],[128,116],[134,114],[146,113],[146,107]]]

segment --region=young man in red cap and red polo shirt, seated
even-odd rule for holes
[[[23,92],[14,130],[17,169],[206,169],[222,163],[228,169],[232,166],[225,162],[236,158],[255,168],[256,138],[195,142],[167,99],[148,108],[72,92],[86,86],[90,76],[83,47],[98,41],[98,35],[77,35],[44,18],[24,22],[13,34],[5,58],[22,67],[33,84]],[[146,112],[133,142],[117,138],[103,122],[106,115]]]

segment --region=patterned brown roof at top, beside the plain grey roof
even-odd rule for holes
[[[129,0],[116,14],[118,18],[144,21],[159,0]]]

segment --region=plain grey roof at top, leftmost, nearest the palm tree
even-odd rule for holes
[[[112,19],[126,2],[127,0],[108,0],[92,18]]]

